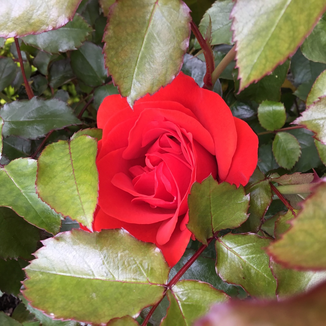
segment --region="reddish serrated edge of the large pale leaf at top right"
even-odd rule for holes
[[[231,10],[231,13],[230,13],[230,18],[232,19],[232,23],[231,23],[231,31],[233,32],[232,33],[232,43],[233,44],[235,44],[235,51],[236,51],[236,55],[235,55],[235,68],[238,68],[239,69],[239,73],[238,73],[238,80],[240,80],[240,85],[239,85],[239,90],[238,90],[238,92],[237,92],[237,94],[240,94],[245,88],[247,88],[250,84],[252,84],[252,83],[256,83],[256,82],[259,82],[263,77],[265,77],[265,76],[268,76],[268,75],[270,75],[274,70],[275,70],[275,68],[277,67],[277,66],[280,66],[280,65],[282,65],[282,64],[284,64],[285,63],[285,61],[287,61],[287,59],[289,58],[289,57],[291,57],[292,55],[294,55],[294,53],[295,52],[297,52],[297,50],[300,48],[300,46],[302,45],[302,43],[304,42],[304,40],[306,39],[306,37],[308,37],[309,35],[310,35],[310,33],[312,32],[312,30],[315,28],[315,26],[317,25],[317,23],[319,22],[319,20],[320,20],[320,18],[321,18],[321,16],[324,14],[324,12],[326,11],[326,5],[325,5],[325,7],[324,7],[324,9],[323,9],[323,11],[322,11],[322,13],[319,15],[319,17],[316,19],[316,21],[315,21],[315,23],[312,25],[312,27],[311,27],[311,29],[309,30],[309,32],[308,33],[306,33],[306,35],[304,35],[304,37],[302,38],[302,40],[299,42],[299,44],[298,44],[298,46],[292,51],[292,52],[290,52],[284,59],[282,59],[281,61],[279,61],[273,68],[272,68],[272,70],[270,70],[270,71],[267,71],[265,74],[263,74],[260,78],[258,78],[258,79],[254,79],[254,80],[252,80],[251,82],[249,82],[248,84],[246,84],[246,85],[242,85],[242,82],[241,82],[241,77],[240,77],[240,75],[241,75],[241,68],[238,66],[238,58],[237,58],[237,54],[238,54],[238,48],[237,48],[237,45],[238,45],[238,42],[235,40],[235,37],[234,37],[234,35],[235,35],[235,29],[234,29],[234,26],[233,26],[233,23],[234,23],[234,20],[235,20],[235,17],[233,16],[234,14],[233,14],[233,11],[234,11],[234,7],[236,6],[236,4],[237,4],[237,0],[234,0],[234,6],[233,6],[233,8],[232,8],[232,10]]]

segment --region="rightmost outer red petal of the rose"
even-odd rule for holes
[[[237,149],[232,157],[229,174],[225,181],[235,184],[237,187],[246,185],[252,173],[256,169],[258,160],[258,137],[241,119],[234,117],[237,128]]]

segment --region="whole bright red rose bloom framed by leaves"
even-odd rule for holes
[[[210,174],[247,184],[258,138],[216,93],[182,72],[134,104],[107,96],[97,114],[103,128],[96,165],[99,197],[93,228],[124,228],[161,249],[170,266],[189,242],[187,197]]]

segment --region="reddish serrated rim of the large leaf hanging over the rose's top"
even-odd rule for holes
[[[158,1],[158,0],[157,0],[157,1]],[[191,27],[190,27],[190,22],[191,22],[190,9],[189,9],[189,7],[188,7],[188,6],[187,6],[187,5],[186,5],[182,0],[179,0],[179,1],[180,1],[180,3],[182,4],[183,9],[184,9],[185,11],[188,11],[188,14],[189,14],[187,46],[186,46],[186,48],[185,48],[185,51],[184,51],[184,54],[183,54],[183,58],[182,58],[181,63],[180,63],[180,67],[178,68],[178,73],[177,73],[176,75],[172,76],[170,82],[168,82],[166,85],[162,85],[160,88],[158,88],[156,92],[158,92],[161,88],[163,88],[163,87],[169,85],[171,82],[173,82],[174,78],[175,78],[175,77],[180,73],[181,68],[182,68],[182,65],[183,65],[183,63],[184,63],[184,56],[185,56],[185,53],[187,52],[187,48],[189,47],[189,40],[190,40],[190,34],[191,34]],[[105,53],[105,50],[106,50],[106,48],[107,48],[107,46],[108,46],[107,43],[105,42],[105,37],[106,37],[106,35],[107,35],[107,33],[108,33],[108,32],[107,32],[107,26],[108,26],[108,24],[109,24],[109,22],[110,22],[111,15],[112,15],[112,13],[113,13],[113,10],[115,10],[115,7],[116,7],[116,6],[117,6],[117,2],[114,2],[114,3],[110,6],[110,8],[109,8],[109,9],[110,9],[110,12],[109,12],[109,14],[108,14],[108,16],[107,16],[107,18],[108,18],[108,20],[107,20],[108,23],[107,23],[107,25],[105,26],[104,34],[103,34],[103,38],[102,38],[102,42],[104,42],[104,46],[103,46],[102,53],[104,54],[104,66],[107,68],[108,76],[111,76],[111,78],[112,78],[112,82],[113,82],[113,85],[118,87],[118,92],[119,92],[119,94],[121,95],[120,86],[119,86],[119,85],[114,81],[114,77],[113,77],[113,76],[111,75],[111,73],[110,73],[110,67],[106,64],[107,55],[106,55],[106,53]],[[153,92],[153,93],[147,93],[147,94],[153,95],[153,94],[155,94],[156,92]],[[143,96],[140,96],[137,100],[139,100],[140,98],[146,96],[147,94],[145,94],[145,95],[143,95]],[[122,95],[121,95],[121,96],[122,96]],[[128,96],[122,96],[122,97],[128,97]],[[135,100],[135,101],[137,101],[137,100]],[[132,106],[130,103],[128,103],[128,104],[130,105],[131,109],[133,109],[133,106]]]

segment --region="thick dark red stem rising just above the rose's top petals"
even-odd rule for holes
[[[215,69],[215,60],[214,60],[214,54],[212,51],[212,48],[207,44],[203,36],[201,35],[198,27],[196,24],[191,21],[190,22],[191,30],[194,33],[195,37],[197,38],[197,41],[201,47],[201,49],[204,51],[204,57],[206,61],[206,74],[204,76],[204,86],[203,88],[212,90],[213,89],[213,83],[212,83],[212,73]]]

